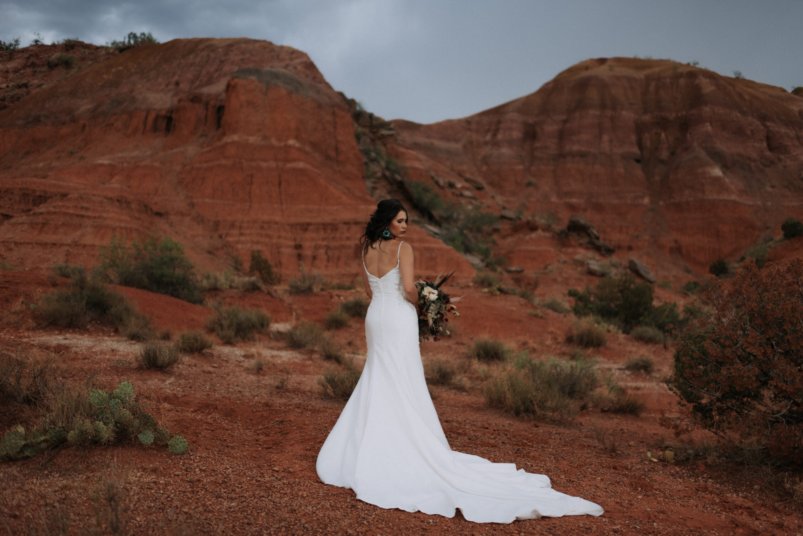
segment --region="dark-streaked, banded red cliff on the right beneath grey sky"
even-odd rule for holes
[[[414,180],[479,181],[481,201],[558,225],[581,214],[653,266],[704,272],[803,217],[803,98],[681,63],[589,59],[475,116],[393,125]],[[527,229],[499,246],[528,270],[555,247]]]

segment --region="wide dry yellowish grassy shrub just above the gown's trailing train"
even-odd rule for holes
[[[599,380],[592,363],[520,357],[483,388],[487,403],[517,416],[567,418],[585,407]]]

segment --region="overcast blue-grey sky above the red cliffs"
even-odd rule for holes
[[[385,119],[430,123],[536,91],[588,58],[699,61],[803,85],[801,0],[0,0],[0,39],[250,37],[307,52]]]

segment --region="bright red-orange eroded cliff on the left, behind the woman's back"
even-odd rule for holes
[[[157,230],[202,269],[261,249],[284,275],[358,273],[376,206],[344,98],[306,54],[251,39],[125,51],[0,112],[0,256],[92,265]],[[471,266],[418,228],[417,270]]]

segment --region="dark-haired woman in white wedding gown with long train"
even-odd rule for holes
[[[593,502],[552,489],[542,474],[454,452],[424,380],[418,349],[413,248],[403,242],[401,201],[377,205],[361,237],[368,359],[318,454],[318,477],[381,508],[421,510],[472,522],[601,515]]]

